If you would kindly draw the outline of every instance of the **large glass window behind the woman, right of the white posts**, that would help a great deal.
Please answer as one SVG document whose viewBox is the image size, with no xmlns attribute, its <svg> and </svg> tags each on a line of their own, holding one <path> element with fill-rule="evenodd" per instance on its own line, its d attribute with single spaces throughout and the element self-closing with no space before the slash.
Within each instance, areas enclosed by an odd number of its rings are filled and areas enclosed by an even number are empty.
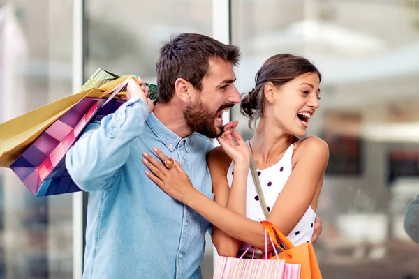
<svg viewBox="0 0 419 279">
<path fill-rule="evenodd" d="M 406 204 L 419 193 L 417 1 L 232 3 L 242 93 L 281 52 L 302 54 L 323 73 L 307 133 L 330 148 L 315 245 L 323 277 L 418 277 L 419 247 L 403 228 Z M 245 139 L 253 135 L 238 107 L 232 119 Z"/>
</svg>

